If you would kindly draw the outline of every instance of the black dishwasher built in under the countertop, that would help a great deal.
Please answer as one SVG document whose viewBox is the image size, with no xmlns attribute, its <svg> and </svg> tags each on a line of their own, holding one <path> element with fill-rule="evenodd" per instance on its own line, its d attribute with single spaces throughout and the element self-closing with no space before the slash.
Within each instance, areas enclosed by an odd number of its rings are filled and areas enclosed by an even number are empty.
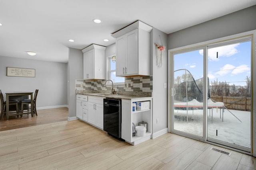
<svg viewBox="0 0 256 170">
<path fill-rule="evenodd" d="M 121 138 L 121 99 L 106 98 L 104 102 L 104 131 Z"/>
</svg>

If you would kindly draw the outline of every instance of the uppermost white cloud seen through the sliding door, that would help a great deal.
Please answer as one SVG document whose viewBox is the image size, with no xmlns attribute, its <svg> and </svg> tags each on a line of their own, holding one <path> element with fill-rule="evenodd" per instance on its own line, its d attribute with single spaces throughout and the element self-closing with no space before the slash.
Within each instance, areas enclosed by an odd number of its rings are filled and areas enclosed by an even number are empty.
<svg viewBox="0 0 256 170">
<path fill-rule="evenodd" d="M 218 61 L 219 58 L 217 58 L 217 52 L 218 52 L 218 57 L 230 57 L 238 53 L 238 50 L 236 49 L 238 45 L 240 44 L 237 43 L 237 44 L 225 45 L 221 47 L 208 49 L 208 59 L 210 61 Z M 203 50 L 199 50 L 199 54 L 203 55 Z"/>
</svg>

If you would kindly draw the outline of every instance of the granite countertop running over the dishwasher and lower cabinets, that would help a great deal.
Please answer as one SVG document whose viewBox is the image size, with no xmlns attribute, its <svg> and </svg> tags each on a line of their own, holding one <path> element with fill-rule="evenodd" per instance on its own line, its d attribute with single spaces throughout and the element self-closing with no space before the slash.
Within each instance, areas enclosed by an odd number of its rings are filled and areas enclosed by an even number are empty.
<svg viewBox="0 0 256 170">
<path fill-rule="evenodd" d="M 152 98 L 149 96 L 133 96 L 133 95 L 124 95 L 124 94 L 106 94 L 106 93 L 78 93 L 88 96 L 99 96 L 104 98 L 115 98 L 115 99 L 126 99 L 126 100 L 132 100 L 132 99 L 139 99 L 139 98 Z"/>
</svg>

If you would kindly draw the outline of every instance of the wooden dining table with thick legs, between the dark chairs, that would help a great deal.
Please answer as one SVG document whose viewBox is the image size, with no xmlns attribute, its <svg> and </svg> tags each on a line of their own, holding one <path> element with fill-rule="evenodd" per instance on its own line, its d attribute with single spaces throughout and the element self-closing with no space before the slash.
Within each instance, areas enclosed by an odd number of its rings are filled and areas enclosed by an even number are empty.
<svg viewBox="0 0 256 170">
<path fill-rule="evenodd" d="M 6 120 L 9 120 L 9 100 L 10 96 L 30 96 L 31 99 L 31 112 L 25 112 L 25 113 L 16 113 L 12 115 L 23 115 L 23 114 L 29 114 L 31 113 L 31 117 L 33 117 L 34 108 L 33 108 L 33 92 L 6 92 Z"/>
</svg>

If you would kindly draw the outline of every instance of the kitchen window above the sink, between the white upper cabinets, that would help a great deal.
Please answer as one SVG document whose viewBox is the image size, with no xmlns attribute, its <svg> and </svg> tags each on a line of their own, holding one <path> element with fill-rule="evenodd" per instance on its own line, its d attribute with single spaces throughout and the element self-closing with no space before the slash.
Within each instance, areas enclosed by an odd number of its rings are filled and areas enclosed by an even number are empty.
<svg viewBox="0 0 256 170">
<path fill-rule="evenodd" d="M 107 58 L 107 72 L 108 80 L 112 80 L 114 84 L 124 85 L 124 77 L 116 77 L 116 55 Z M 111 82 L 107 82 L 110 84 Z"/>
</svg>

